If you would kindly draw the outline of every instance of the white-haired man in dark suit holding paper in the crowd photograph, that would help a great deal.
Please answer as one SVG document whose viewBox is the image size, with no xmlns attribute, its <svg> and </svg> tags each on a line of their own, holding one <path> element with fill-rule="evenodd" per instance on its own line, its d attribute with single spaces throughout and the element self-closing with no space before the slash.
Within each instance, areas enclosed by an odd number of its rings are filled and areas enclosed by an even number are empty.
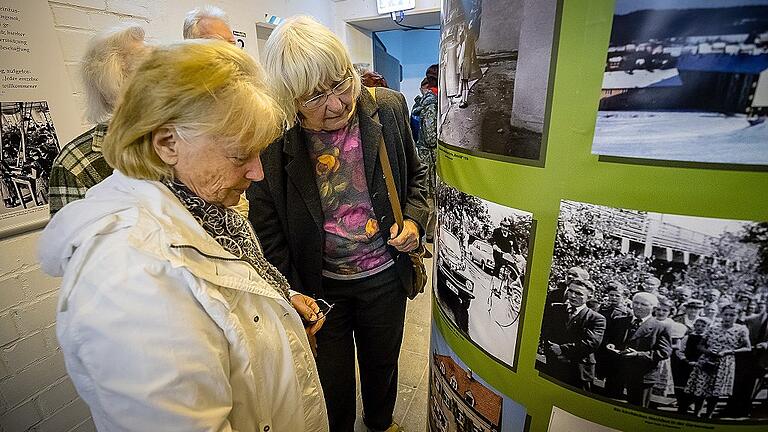
<svg viewBox="0 0 768 432">
<path fill-rule="evenodd" d="M 615 354 L 605 388 L 609 396 L 648 407 L 651 388 L 659 380 L 659 362 L 672 352 L 669 330 L 651 316 L 658 306 L 656 295 L 639 292 L 632 297 L 632 314 L 608 322 L 605 348 Z"/>
</svg>

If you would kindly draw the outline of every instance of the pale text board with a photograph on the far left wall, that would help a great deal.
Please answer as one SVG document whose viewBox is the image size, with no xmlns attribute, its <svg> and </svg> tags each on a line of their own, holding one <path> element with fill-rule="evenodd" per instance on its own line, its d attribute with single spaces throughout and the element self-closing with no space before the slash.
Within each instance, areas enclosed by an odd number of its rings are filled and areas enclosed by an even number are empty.
<svg viewBox="0 0 768 432">
<path fill-rule="evenodd" d="M 81 129 L 48 2 L 0 1 L 0 237 L 48 221 L 48 179 Z"/>
</svg>

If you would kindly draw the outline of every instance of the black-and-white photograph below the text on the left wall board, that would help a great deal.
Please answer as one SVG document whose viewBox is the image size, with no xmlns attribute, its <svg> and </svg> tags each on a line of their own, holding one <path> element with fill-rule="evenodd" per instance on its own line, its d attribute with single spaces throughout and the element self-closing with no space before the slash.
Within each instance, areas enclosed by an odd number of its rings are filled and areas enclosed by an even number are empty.
<svg viewBox="0 0 768 432">
<path fill-rule="evenodd" d="M 47 102 L 0 102 L 0 110 L 3 218 L 48 204 L 48 180 L 59 141 Z"/>
</svg>

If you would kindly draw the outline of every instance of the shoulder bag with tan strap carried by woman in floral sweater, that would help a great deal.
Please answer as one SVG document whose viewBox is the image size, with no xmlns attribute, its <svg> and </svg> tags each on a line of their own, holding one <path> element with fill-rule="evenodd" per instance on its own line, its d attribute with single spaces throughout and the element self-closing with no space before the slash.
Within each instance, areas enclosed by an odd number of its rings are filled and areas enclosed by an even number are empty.
<svg viewBox="0 0 768 432">
<path fill-rule="evenodd" d="M 368 91 L 375 101 L 376 88 L 368 87 Z M 378 122 L 379 113 L 377 112 L 373 118 Z M 397 223 L 399 233 L 403 229 L 403 211 L 400 208 L 400 197 L 397 195 L 395 180 L 392 176 L 392 166 L 389 164 L 387 146 L 384 144 L 384 135 L 381 136 L 381 140 L 379 141 L 379 162 L 381 163 L 381 169 L 384 171 L 384 181 L 387 184 L 387 195 L 389 195 L 389 203 L 392 206 L 392 213 L 395 215 L 395 222 Z M 405 287 L 405 293 L 411 300 L 423 293 L 424 287 L 427 285 L 427 268 L 424 266 L 425 258 L 432 258 L 432 254 L 422 243 L 419 243 L 419 247 L 416 249 L 408 252 L 408 259 L 411 261 L 411 267 L 413 267 L 413 280 L 411 281 L 410 286 Z"/>
</svg>

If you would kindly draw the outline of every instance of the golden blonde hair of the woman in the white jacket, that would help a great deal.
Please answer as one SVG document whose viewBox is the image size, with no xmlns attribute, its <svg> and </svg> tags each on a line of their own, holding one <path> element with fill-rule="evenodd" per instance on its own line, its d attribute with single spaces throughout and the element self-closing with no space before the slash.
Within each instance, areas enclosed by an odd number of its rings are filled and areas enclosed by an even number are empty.
<svg viewBox="0 0 768 432">
<path fill-rule="evenodd" d="M 172 178 L 152 145 L 153 131 L 163 126 L 248 154 L 261 152 L 285 121 L 267 90 L 261 67 L 226 42 L 197 39 L 158 47 L 125 89 L 104 139 L 104 158 L 129 177 Z"/>
</svg>

